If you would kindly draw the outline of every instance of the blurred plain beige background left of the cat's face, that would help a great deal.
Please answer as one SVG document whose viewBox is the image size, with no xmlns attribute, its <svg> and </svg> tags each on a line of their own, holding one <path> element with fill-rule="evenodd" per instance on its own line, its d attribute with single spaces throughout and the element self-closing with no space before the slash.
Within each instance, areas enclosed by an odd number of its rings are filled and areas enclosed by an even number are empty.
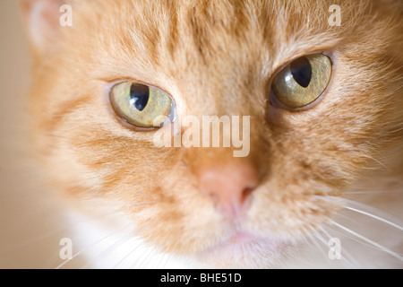
<svg viewBox="0 0 403 287">
<path fill-rule="evenodd" d="M 65 230 L 30 161 L 30 46 L 19 8 L 0 1 L 0 268 L 56 267 Z"/>
</svg>

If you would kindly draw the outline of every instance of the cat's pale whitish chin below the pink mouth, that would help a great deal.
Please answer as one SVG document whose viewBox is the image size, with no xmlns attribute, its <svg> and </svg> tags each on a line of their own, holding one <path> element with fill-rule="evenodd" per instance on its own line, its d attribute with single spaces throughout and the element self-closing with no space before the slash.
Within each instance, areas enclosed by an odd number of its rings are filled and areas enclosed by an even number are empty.
<svg viewBox="0 0 403 287">
<path fill-rule="evenodd" d="M 278 268 L 290 244 L 285 240 L 236 232 L 198 255 L 210 268 Z"/>
</svg>

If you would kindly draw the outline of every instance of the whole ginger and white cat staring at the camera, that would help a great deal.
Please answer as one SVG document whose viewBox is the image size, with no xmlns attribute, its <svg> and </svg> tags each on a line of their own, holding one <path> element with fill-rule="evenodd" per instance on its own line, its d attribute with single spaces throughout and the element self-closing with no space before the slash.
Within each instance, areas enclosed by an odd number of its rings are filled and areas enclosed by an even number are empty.
<svg viewBox="0 0 403 287">
<path fill-rule="evenodd" d="M 304 246 L 322 245 L 327 257 L 322 243 L 347 236 L 381 249 L 381 259 L 348 257 L 344 238 L 344 267 L 402 267 L 399 220 L 350 197 L 382 191 L 383 207 L 393 213 L 398 202 L 401 215 L 401 1 L 21 7 L 35 58 L 31 131 L 47 178 L 72 222 L 95 218 L 80 230 L 88 243 L 102 245 L 99 234 L 111 232 L 126 238 L 114 239 L 104 256 L 115 261 L 102 266 L 127 257 L 152 266 L 150 252 L 167 266 L 307 267 Z M 154 113 L 164 116 L 157 124 Z M 156 146 L 160 131 L 184 135 L 174 126 L 186 116 L 250 118 L 248 154 L 235 157 L 232 145 Z M 394 241 L 383 246 L 341 224 L 348 211 L 371 220 L 364 231 L 375 237 L 389 226 Z"/>
</svg>

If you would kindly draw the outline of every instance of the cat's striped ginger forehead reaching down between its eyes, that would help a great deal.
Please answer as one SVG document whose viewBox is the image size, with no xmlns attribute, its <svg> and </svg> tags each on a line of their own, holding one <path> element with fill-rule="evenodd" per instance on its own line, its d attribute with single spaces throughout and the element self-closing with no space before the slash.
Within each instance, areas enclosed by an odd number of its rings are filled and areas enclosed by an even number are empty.
<svg viewBox="0 0 403 287">
<path fill-rule="evenodd" d="M 336 2 L 348 17 L 354 4 Z M 131 78 L 210 105 L 231 94 L 235 108 L 242 95 L 263 95 L 281 65 L 331 48 L 351 28 L 347 22 L 344 28 L 329 25 L 330 1 L 85 3 L 77 2 L 76 31 L 88 35 L 90 28 L 88 45 L 98 50 L 90 57 L 101 63 L 97 77 Z"/>
</svg>

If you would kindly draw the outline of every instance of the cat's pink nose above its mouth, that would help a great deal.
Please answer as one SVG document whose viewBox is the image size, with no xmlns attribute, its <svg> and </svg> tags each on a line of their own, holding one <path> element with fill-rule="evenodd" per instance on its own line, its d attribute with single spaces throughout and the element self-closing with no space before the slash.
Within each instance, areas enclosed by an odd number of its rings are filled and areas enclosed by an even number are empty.
<svg viewBox="0 0 403 287">
<path fill-rule="evenodd" d="M 199 187 L 210 196 L 219 212 L 238 215 L 258 186 L 258 170 L 250 161 L 215 164 L 199 173 Z"/>
</svg>

